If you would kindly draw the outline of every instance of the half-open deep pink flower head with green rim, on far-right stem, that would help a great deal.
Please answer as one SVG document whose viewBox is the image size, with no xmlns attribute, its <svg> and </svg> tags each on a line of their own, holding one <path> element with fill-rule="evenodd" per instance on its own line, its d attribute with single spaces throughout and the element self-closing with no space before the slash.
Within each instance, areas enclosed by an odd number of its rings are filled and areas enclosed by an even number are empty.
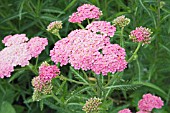
<svg viewBox="0 0 170 113">
<path fill-rule="evenodd" d="M 137 27 L 135 30 L 130 32 L 130 39 L 133 40 L 133 42 L 142 42 L 143 44 L 150 43 L 152 34 L 151 30 L 146 27 Z"/>
</svg>

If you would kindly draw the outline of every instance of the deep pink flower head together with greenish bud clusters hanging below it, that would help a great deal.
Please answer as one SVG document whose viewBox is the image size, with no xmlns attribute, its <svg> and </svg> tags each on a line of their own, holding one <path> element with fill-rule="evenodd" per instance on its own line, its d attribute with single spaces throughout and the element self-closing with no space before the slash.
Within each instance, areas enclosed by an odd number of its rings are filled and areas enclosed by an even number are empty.
<svg viewBox="0 0 170 113">
<path fill-rule="evenodd" d="M 43 62 L 39 67 L 39 76 L 32 79 L 34 87 L 33 100 L 38 101 L 41 95 L 50 94 L 52 92 L 51 80 L 60 74 L 60 70 L 56 65 L 49 65 Z"/>
</svg>

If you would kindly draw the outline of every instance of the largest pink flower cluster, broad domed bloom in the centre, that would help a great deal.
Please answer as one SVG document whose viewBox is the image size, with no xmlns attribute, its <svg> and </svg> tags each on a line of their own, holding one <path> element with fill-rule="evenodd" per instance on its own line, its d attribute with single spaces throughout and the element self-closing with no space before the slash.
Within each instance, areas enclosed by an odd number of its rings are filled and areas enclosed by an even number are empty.
<svg viewBox="0 0 170 113">
<path fill-rule="evenodd" d="M 109 37 L 89 30 L 74 30 L 67 38 L 56 42 L 50 51 L 52 61 L 70 63 L 75 69 L 92 70 L 107 75 L 126 68 L 125 49 L 111 44 Z"/>
</svg>

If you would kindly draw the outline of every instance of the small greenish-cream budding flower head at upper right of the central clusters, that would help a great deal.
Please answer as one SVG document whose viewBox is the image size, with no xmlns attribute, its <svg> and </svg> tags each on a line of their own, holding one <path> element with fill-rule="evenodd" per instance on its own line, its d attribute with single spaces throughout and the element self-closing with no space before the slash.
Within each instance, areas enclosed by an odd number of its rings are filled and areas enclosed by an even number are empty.
<svg viewBox="0 0 170 113">
<path fill-rule="evenodd" d="M 125 18 L 125 16 L 122 15 L 114 19 L 112 22 L 115 26 L 125 27 L 130 23 L 130 19 Z"/>
</svg>

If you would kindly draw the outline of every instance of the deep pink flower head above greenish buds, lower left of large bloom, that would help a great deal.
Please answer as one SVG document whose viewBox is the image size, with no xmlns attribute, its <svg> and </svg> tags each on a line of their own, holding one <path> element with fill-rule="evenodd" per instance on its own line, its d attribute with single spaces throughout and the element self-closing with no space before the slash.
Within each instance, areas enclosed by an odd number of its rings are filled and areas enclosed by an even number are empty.
<svg viewBox="0 0 170 113">
<path fill-rule="evenodd" d="M 47 63 L 43 63 L 39 67 L 39 76 L 42 82 L 51 81 L 59 74 L 60 70 L 56 65 L 48 65 Z"/>
</svg>

